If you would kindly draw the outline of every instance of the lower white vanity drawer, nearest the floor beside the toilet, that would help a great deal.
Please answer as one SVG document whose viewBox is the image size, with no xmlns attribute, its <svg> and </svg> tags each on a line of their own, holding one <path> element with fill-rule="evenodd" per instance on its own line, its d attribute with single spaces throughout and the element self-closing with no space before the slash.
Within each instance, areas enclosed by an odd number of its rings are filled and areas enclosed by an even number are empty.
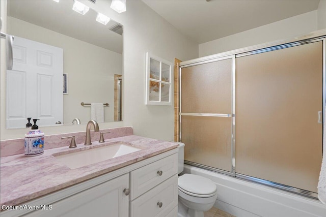
<svg viewBox="0 0 326 217">
<path fill-rule="evenodd" d="M 175 216 L 178 205 L 178 175 L 130 202 L 130 217 Z"/>
</svg>

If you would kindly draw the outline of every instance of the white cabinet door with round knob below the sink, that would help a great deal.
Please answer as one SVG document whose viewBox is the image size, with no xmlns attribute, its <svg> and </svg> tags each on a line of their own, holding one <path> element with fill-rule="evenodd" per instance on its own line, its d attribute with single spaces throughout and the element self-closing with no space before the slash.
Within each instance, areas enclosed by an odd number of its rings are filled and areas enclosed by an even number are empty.
<svg viewBox="0 0 326 217">
<path fill-rule="evenodd" d="M 51 210 L 38 210 L 25 216 L 33 217 L 128 217 L 129 198 L 123 192 L 128 189 L 129 175 L 124 174 L 95 187 L 55 202 Z"/>
</svg>

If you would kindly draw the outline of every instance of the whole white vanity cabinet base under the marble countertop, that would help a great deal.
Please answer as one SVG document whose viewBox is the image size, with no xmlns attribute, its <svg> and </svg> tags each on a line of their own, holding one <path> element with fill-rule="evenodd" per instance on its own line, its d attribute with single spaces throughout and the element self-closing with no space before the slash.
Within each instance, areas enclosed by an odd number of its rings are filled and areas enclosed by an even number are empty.
<svg viewBox="0 0 326 217">
<path fill-rule="evenodd" d="M 1 216 L 176 217 L 177 152 L 175 148 L 24 203 L 47 209 L 6 210 Z"/>
</svg>

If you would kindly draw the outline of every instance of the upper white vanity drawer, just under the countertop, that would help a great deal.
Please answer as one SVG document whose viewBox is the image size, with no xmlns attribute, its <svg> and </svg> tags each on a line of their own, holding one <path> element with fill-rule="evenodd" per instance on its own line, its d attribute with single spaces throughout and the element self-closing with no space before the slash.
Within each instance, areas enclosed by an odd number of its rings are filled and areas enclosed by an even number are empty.
<svg viewBox="0 0 326 217">
<path fill-rule="evenodd" d="M 133 200 L 178 172 L 178 154 L 130 172 L 130 200 Z"/>
</svg>

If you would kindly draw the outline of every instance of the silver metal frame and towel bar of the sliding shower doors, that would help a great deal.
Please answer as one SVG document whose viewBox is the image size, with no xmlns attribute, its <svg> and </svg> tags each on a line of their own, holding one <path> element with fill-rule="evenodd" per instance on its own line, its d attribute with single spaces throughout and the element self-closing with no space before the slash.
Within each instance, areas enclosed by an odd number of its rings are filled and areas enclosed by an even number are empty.
<svg viewBox="0 0 326 217">
<path fill-rule="evenodd" d="M 237 50 L 232 50 L 232 51 L 228 51 L 228 52 L 224 52 L 224 53 L 219 53 L 219 54 L 214 54 L 214 55 L 210 55 L 210 56 L 206 56 L 206 57 L 201 57 L 201 58 L 197 58 L 197 59 L 192 59 L 192 60 L 187 60 L 187 61 L 183 61 L 179 64 L 179 69 L 178 69 L 178 74 L 179 74 L 179 141 L 181 141 L 181 116 L 214 116 L 214 117 L 232 117 L 231 121 L 232 121 L 232 127 L 231 127 L 231 153 L 232 153 L 232 158 L 230 159 L 232 161 L 232 171 L 225 171 L 225 170 L 221 170 L 221 169 L 217 169 L 217 168 L 213 168 L 213 167 L 209 167 L 209 166 L 205 166 L 205 165 L 201 165 L 198 163 L 194 163 L 194 162 L 189 162 L 189 161 L 184 161 L 186 164 L 189 165 L 193 165 L 193 166 L 198 166 L 204 169 L 208 169 L 211 171 L 215 171 L 215 172 L 219 172 L 219 173 L 223 173 L 226 175 L 230 175 L 233 176 L 235 178 L 239 178 L 242 180 L 247 180 L 247 181 L 251 181 L 251 182 L 256 182 L 256 183 L 260 183 L 260 184 L 264 184 L 267 185 L 269 187 L 273 187 L 273 188 L 277 188 L 277 189 L 281 189 L 287 192 L 291 192 L 291 193 L 295 193 L 295 194 L 299 194 L 299 195 L 303 195 L 306 197 L 310 197 L 310 198 L 314 198 L 317 199 L 317 194 L 314 192 L 310 192 L 310 191 L 306 191 L 306 190 L 302 190 L 302 189 L 297 189 L 294 187 L 290 187 L 288 185 L 284 185 L 284 184 L 280 184 L 280 183 L 276 183 L 273 181 L 268 181 L 268 180 L 264 180 L 264 179 L 259 179 L 259 178 L 255 178 L 255 177 L 251 177 L 248 175 L 243 175 L 243 174 L 239 174 L 236 173 L 236 164 L 235 164 L 235 148 L 236 148 L 236 144 L 235 144 L 235 121 L 236 121 L 236 111 L 235 111 L 235 73 L 236 73 L 236 69 L 235 69 L 235 59 L 237 57 L 242 57 L 242 56 L 247 56 L 247 55 L 253 55 L 253 54 L 257 54 L 257 53 L 263 53 L 263 52 L 269 52 L 269 51 L 273 51 L 273 50 L 279 50 L 279 49 L 283 49 L 283 48 L 288 48 L 288 47 L 293 47 L 293 46 L 298 46 L 298 45 L 303 45 L 303 44 L 308 44 L 308 43 L 312 43 L 312 42 L 317 42 L 317 41 L 322 41 L 322 47 L 323 47 L 323 67 L 322 67 L 322 114 L 323 114 L 323 127 L 324 128 L 324 118 L 325 118 L 325 65 L 326 65 L 326 30 L 320 30 L 317 31 L 313 34 L 308 34 L 308 35 L 304 35 L 301 37 L 297 37 L 295 39 L 291 39 L 291 40 L 281 40 L 281 41 L 276 41 L 276 42 L 270 42 L 270 43 L 264 43 L 261 45 L 257 45 L 257 46 L 251 46 L 251 47 L 247 47 L 247 48 L 241 48 L 241 49 L 237 49 Z M 232 85 L 232 91 L 231 91 L 231 95 L 232 95 L 232 101 L 231 101 L 231 110 L 232 113 L 231 114 L 219 114 L 219 113 L 182 113 L 181 112 L 181 86 L 182 86 L 182 82 L 181 82 L 181 69 L 186 68 L 186 67 L 191 67 L 191 66 L 197 66 L 197 65 L 202 65 L 202 64 L 207 64 L 207 63 L 211 63 L 214 61 L 219 61 L 219 60 L 224 60 L 224 59 L 232 59 L 232 75 L 231 75 L 231 85 Z M 181 141 L 182 142 L 182 141 Z"/>
</svg>

